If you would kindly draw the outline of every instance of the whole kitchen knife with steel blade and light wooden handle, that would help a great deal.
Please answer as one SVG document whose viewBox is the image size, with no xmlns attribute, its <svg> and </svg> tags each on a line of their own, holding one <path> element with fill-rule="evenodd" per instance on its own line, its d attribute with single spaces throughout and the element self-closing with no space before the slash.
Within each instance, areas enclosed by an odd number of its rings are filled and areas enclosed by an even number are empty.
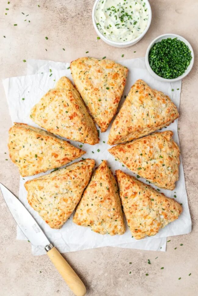
<svg viewBox="0 0 198 296">
<path fill-rule="evenodd" d="M 49 242 L 36 220 L 19 199 L 1 183 L 0 188 L 13 218 L 30 243 L 33 246 L 45 246 L 51 262 L 62 275 L 69 288 L 76 296 L 84 296 L 86 294 L 85 285 L 58 250 Z"/>
</svg>

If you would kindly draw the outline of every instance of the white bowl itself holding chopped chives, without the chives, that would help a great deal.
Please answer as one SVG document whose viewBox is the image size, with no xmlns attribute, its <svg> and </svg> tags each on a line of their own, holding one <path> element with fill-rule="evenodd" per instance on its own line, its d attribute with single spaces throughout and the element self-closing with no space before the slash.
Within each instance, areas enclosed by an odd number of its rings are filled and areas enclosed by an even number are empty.
<svg viewBox="0 0 198 296">
<path fill-rule="evenodd" d="M 177 78 L 173 78 L 173 79 L 167 79 L 167 78 L 163 78 L 159 75 L 157 75 L 150 67 L 150 64 L 149 64 L 149 52 L 150 52 L 150 49 L 151 47 L 154 45 L 154 43 L 157 43 L 159 41 L 161 41 L 162 39 L 167 39 L 167 38 L 175 38 L 177 37 L 177 39 L 183 41 L 188 47 L 189 47 L 189 50 L 191 51 L 191 56 L 192 56 L 192 59 L 190 61 L 190 64 L 188 66 L 188 68 L 186 69 L 186 71 L 178 76 Z M 148 46 L 147 48 L 147 51 L 146 51 L 146 55 L 145 55 L 145 63 L 146 63 L 146 67 L 147 67 L 147 70 L 149 71 L 150 75 L 153 76 L 154 78 L 156 78 L 157 80 L 159 81 L 163 81 L 163 82 L 175 82 L 175 81 L 178 81 L 178 80 L 181 80 L 183 79 L 184 77 L 186 77 L 189 72 L 191 71 L 192 67 L 193 67 L 193 63 L 194 63 L 194 52 L 193 52 L 193 48 L 192 46 L 190 45 L 190 43 L 185 39 L 183 38 L 182 36 L 179 36 L 179 35 L 176 35 L 176 34 L 163 34 L 163 35 L 160 35 L 158 36 L 157 38 L 155 38 Z"/>
</svg>

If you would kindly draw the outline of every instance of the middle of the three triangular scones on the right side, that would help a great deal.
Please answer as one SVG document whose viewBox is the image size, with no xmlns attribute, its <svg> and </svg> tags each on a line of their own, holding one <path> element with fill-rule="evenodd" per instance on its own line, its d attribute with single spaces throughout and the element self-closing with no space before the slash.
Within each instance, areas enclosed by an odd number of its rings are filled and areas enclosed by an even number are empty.
<svg viewBox="0 0 198 296">
<path fill-rule="evenodd" d="M 157 132 L 108 151 L 133 173 L 155 185 L 173 190 L 179 179 L 179 147 L 173 132 Z"/>
</svg>

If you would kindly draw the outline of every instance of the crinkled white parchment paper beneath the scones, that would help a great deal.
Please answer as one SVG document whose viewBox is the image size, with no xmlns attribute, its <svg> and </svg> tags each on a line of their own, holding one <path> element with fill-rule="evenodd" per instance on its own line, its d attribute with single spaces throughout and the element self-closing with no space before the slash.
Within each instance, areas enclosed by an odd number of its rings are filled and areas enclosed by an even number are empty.
<svg viewBox="0 0 198 296">
<path fill-rule="evenodd" d="M 33 107 L 40 100 L 40 98 L 48 91 L 48 89 L 54 87 L 55 82 L 58 81 L 60 77 L 67 76 L 69 79 L 72 80 L 70 69 L 67 69 L 67 67 L 69 67 L 69 64 L 58 63 L 59 66 L 61 66 L 61 70 L 55 67 L 55 65 L 57 64 L 56 62 L 50 62 L 49 64 L 49 61 L 41 61 L 42 67 L 41 64 L 38 64 L 38 62 L 36 64 L 36 70 L 40 74 L 27 75 L 21 77 L 11 77 L 3 81 L 12 122 L 24 122 L 32 126 L 37 126 L 29 117 L 30 108 Z M 169 95 L 172 101 L 179 108 L 181 81 L 176 82 L 174 84 L 156 81 L 153 77 L 150 76 L 146 69 L 142 69 L 143 67 L 145 67 L 144 61 L 142 59 L 138 59 L 138 61 L 136 62 L 136 68 L 134 66 L 133 60 L 122 60 L 121 64 L 126 65 L 129 68 L 129 75 L 127 78 L 124 95 L 127 95 L 132 84 L 137 79 L 141 78 L 144 81 L 146 81 L 152 88 L 156 88 L 160 91 L 163 91 L 165 94 Z M 33 65 L 34 61 L 30 61 L 28 63 L 28 71 L 30 71 L 32 67 L 35 73 L 35 68 Z M 51 73 L 45 72 L 49 71 L 49 69 L 51 69 Z M 179 90 L 177 90 L 177 88 L 179 88 Z M 174 89 L 174 91 L 171 91 L 171 89 Z M 124 100 L 124 95 L 122 98 L 122 102 Z M 25 100 L 22 100 L 22 98 L 25 98 Z M 115 169 L 121 169 L 127 174 L 133 175 L 133 173 L 130 170 L 128 170 L 126 167 L 122 167 L 122 164 L 118 161 L 115 161 L 113 156 L 110 153 L 108 153 L 107 150 L 110 146 L 106 143 L 108 139 L 109 129 L 105 133 L 100 133 L 99 144 L 94 146 L 88 144 L 83 145 L 82 149 L 87 151 L 87 153 L 83 155 L 83 157 L 93 158 L 96 162 L 96 166 L 98 166 L 101 163 L 102 159 L 106 159 L 108 160 L 108 164 L 111 167 L 113 173 L 115 172 Z M 174 140 L 176 143 L 179 144 L 179 138 L 177 133 L 177 120 L 175 120 L 175 122 L 172 123 L 167 129 L 170 129 L 174 132 Z M 103 141 L 105 143 L 103 143 Z M 78 142 L 70 142 L 74 146 L 80 145 L 80 143 Z M 100 149 L 100 151 L 97 152 L 97 149 Z M 92 151 L 94 153 L 92 153 Z M 164 229 L 161 229 L 155 237 L 145 238 L 141 240 L 141 242 L 136 242 L 136 240 L 131 237 L 131 233 L 128 227 L 126 233 L 122 236 L 100 235 L 95 232 L 92 232 L 90 228 L 81 227 L 74 224 L 72 222 L 72 216 L 65 223 L 65 225 L 63 225 L 61 229 L 51 229 L 38 215 L 38 213 L 29 206 L 27 202 L 27 192 L 23 184 L 25 181 L 35 178 L 35 176 L 20 178 L 19 198 L 27 207 L 27 209 L 31 212 L 31 214 L 34 216 L 37 222 L 41 225 L 42 229 L 44 230 L 50 241 L 54 243 L 61 252 L 83 250 L 101 246 L 119 245 L 126 247 L 127 243 L 131 243 L 131 245 L 133 243 L 137 243 L 137 245 L 140 246 L 141 243 L 144 244 L 144 242 L 146 243 L 143 246 L 143 249 L 149 248 L 150 250 L 152 250 L 152 243 L 154 244 L 154 241 L 157 238 L 164 238 L 165 236 L 184 234 L 191 231 L 191 219 L 189 215 L 182 161 L 179 169 L 179 181 L 176 184 L 175 191 L 168 191 L 163 189 L 160 190 L 161 192 L 164 192 L 164 194 L 168 197 L 174 198 L 174 195 L 177 196 L 176 200 L 182 203 L 183 205 L 182 214 L 180 215 L 178 220 L 170 223 Z M 41 173 L 37 176 L 41 176 L 43 174 L 46 173 Z M 145 181 L 144 179 L 140 180 Z M 139 248 L 141 248 L 141 246 Z M 159 248 L 159 246 L 157 248 Z M 39 255 L 45 253 L 45 251 L 43 250 L 43 247 L 37 246 L 33 247 L 33 253 L 35 255 Z"/>
</svg>

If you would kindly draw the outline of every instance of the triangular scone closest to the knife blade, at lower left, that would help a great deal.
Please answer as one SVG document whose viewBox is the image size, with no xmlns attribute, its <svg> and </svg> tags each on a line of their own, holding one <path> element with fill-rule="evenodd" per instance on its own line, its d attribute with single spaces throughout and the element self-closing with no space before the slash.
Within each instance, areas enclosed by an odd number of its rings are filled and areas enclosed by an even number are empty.
<svg viewBox="0 0 198 296">
<path fill-rule="evenodd" d="M 61 228 L 76 208 L 91 177 L 93 159 L 80 160 L 27 181 L 27 200 L 51 228 Z"/>
</svg>

